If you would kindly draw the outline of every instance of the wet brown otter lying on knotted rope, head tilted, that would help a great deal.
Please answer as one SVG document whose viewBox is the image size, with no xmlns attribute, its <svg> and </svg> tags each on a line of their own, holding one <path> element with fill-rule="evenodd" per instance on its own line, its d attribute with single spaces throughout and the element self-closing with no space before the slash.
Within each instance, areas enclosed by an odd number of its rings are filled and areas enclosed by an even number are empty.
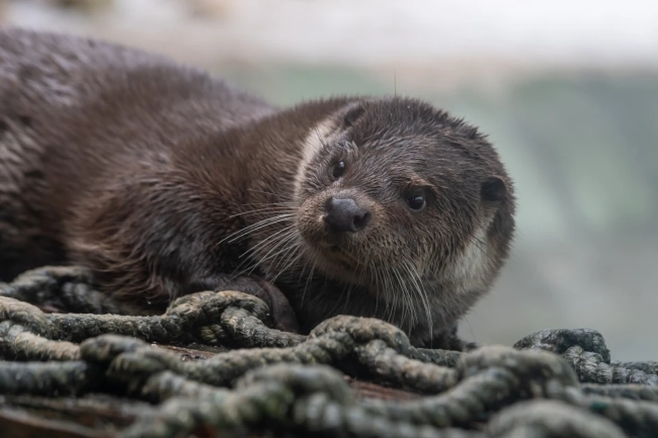
<svg viewBox="0 0 658 438">
<path fill-rule="evenodd" d="M 252 293 L 277 327 L 377 317 L 431 345 L 515 229 L 485 134 L 422 99 L 289 108 L 165 56 L 0 30 L 0 276 L 91 269 L 126 312 Z"/>
</svg>

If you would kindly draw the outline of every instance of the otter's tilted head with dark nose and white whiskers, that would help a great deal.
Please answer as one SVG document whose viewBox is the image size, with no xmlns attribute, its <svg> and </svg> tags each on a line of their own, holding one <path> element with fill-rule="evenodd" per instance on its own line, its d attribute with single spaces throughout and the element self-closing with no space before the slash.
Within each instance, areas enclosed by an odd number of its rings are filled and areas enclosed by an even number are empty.
<svg viewBox="0 0 658 438">
<path fill-rule="evenodd" d="M 309 130 L 293 202 L 319 271 L 430 331 L 489 289 L 514 230 L 512 184 L 485 136 L 415 99 L 352 101 Z"/>
</svg>

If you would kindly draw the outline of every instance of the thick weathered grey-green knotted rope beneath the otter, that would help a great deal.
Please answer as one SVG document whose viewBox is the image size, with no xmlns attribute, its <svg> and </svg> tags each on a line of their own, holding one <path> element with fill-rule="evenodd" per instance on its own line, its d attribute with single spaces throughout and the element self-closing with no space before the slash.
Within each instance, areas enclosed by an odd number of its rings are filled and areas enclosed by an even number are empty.
<svg viewBox="0 0 658 438">
<path fill-rule="evenodd" d="M 56 305 L 69 313 L 44 313 Z M 0 284 L 0 394 L 104 391 L 154 404 L 119 437 L 265 430 L 324 437 L 655 437 L 658 365 L 611 361 L 595 330 L 543 330 L 513 347 L 414 348 L 378 319 L 337 316 L 308 336 L 267 326 L 267 305 L 204 291 L 158 316 L 115 314 L 79 268 Z M 221 347 L 184 360 L 154 344 Z M 358 398 L 358 374 L 422 394 Z"/>
</svg>

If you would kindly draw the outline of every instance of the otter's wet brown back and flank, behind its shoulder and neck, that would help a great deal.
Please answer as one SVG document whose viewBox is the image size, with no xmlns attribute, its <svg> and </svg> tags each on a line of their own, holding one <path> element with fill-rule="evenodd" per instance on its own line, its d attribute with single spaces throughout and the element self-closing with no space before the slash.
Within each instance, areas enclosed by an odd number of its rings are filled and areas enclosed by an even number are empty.
<svg viewBox="0 0 658 438">
<path fill-rule="evenodd" d="M 1 279 L 69 259 L 65 223 L 87 191 L 98 200 L 94 188 L 117 174 L 166 165 L 181 143 L 271 111 L 160 56 L 0 29 Z"/>
</svg>

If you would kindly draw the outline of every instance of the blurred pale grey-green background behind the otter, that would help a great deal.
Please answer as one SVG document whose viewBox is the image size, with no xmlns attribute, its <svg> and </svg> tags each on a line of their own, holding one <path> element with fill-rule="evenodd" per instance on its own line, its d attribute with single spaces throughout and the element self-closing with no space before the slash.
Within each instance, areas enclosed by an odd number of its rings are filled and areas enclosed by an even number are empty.
<svg viewBox="0 0 658 438">
<path fill-rule="evenodd" d="M 461 336 L 602 332 L 658 360 L 658 2 L 0 0 L 0 23 L 164 53 L 285 105 L 413 95 L 490 134 L 513 256 Z"/>
</svg>

